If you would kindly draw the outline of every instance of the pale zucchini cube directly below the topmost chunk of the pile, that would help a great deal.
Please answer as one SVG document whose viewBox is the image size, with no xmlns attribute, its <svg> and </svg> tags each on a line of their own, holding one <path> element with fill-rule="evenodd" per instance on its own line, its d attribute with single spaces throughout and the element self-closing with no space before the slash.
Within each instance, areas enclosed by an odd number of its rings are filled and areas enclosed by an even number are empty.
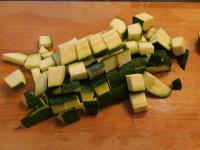
<svg viewBox="0 0 200 150">
<path fill-rule="evenodd" d="M 142 27 L 139 23 L 128 26 L 128 40 L 140 40 L 142 38 Z"/>
</svg>

